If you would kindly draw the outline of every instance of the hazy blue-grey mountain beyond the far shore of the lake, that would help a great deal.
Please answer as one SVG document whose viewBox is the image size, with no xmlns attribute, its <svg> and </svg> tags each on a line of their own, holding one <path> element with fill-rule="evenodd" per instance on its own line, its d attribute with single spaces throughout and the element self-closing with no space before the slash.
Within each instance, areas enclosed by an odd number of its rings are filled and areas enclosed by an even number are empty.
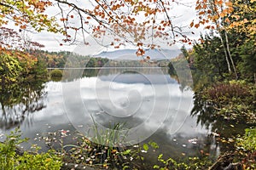
<svg viewBox="0 0 256 170">
<path fill-rule="evenodd" d="M 108 58 L 114 60 L 140 60 L 141 57 L 137 57 L 137 49 L 120 49 L 115 51 L 104 51 L 100 54 L 96 54 L 93 57 L 96 58 Z M 180 49 L 148 49 L 145 51 L 145 57 L 149 56 L 151 60 L 163 60 L 173 59 L 181 54 Z"/>
</svg>

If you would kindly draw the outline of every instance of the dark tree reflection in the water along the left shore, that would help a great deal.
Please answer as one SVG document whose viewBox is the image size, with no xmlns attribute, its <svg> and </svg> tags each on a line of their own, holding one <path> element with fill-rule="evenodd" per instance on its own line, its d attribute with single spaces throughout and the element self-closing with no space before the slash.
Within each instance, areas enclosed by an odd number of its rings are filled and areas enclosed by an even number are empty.
<svg viewBox="0 0 256 170">
<path fill-rule="evenodd" d="M 0 128 L 16 127 L 31 113 L 46 106 L 44 82 L 46 80 L 32 80 L 0 87 Z"/>
</svg>

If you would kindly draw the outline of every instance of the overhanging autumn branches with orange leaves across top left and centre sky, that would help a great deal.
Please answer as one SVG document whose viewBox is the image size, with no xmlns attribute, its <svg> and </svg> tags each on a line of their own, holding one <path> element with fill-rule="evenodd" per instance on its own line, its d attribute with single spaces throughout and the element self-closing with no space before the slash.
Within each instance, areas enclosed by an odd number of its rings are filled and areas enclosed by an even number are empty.
<svg viewBox="0 0 256 170">
<path fill-rule="evenodd" d="M 111 35 L 112 41 L 104 45 L 119 48 L 129 42 L 137 46 L 137 55 L 143 55 L 144 48 L 189 42 L 180 27 L 173 25 L 170 12 L 176 4 L 183 5 L 175 0 L 3 0 L 0 26 L 12 20 L 20 29 L 61 32 L 67 43 L 88 34 L 98 42 L 102 41 L 101 37 Z M 47 13 L 48 9 L 55 12 Z M 85 39 L 84 43 L 87 43 Z"/>
</svg>

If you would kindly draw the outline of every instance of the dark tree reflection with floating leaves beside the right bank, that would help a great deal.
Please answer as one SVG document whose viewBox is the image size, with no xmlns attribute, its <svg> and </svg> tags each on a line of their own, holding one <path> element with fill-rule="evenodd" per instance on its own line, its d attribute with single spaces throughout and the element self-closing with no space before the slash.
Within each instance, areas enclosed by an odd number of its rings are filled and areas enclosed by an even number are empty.
<svg viewBox="0 0 256 170">
<path fill-rule="evenodd" d="M 212 144 L 207 145 L 212 145 L 220 152 L 232 149 L 236 137 L 243 134 L 245 128 L 250 127 L 243 116 L 233 120 L 219 115 L 217 106 L 204 99 L 201 92 L 195 92 L 191 116 L 196 116 L 198 124 L 211 130 L 212 133 L 207 137 L 207 142 Z"/>
</svg>

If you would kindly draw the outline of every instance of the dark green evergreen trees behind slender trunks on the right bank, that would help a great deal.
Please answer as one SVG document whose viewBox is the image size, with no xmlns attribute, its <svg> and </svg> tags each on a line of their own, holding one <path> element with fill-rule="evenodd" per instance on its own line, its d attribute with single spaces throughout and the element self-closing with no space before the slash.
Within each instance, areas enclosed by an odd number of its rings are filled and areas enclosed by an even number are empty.
<svg viewBox="0 0 256 170">
<path fill-rule="evenodd" d="M 220 34 L 220 36 L 223 36 L 224 32 L 221 31 Z M 247 82 L 254 82 L 254 60 L 256 58 L 253 41 L 245 37 L 244 34 L 237 35 L 236 31 L 227 33 L 227 36 L 230 38 L 230 54 L 236 66 L 236 79 L 246 79 Z M 189 53 L 189 65 L 192 65 L 190 68 L 195 70 L 193 71 L 194 75 L 196 76 L 197 72 L 201 72 L 203 76 L 212 79 L 212 82 L 234 78 L 226 64 L 224 57 L 226 52 L 219 37 L 212 31 L 205 36 L 201 36 L 201 39 L 203 42 L 195 43 L 191 53 Z"/>
</svg>

